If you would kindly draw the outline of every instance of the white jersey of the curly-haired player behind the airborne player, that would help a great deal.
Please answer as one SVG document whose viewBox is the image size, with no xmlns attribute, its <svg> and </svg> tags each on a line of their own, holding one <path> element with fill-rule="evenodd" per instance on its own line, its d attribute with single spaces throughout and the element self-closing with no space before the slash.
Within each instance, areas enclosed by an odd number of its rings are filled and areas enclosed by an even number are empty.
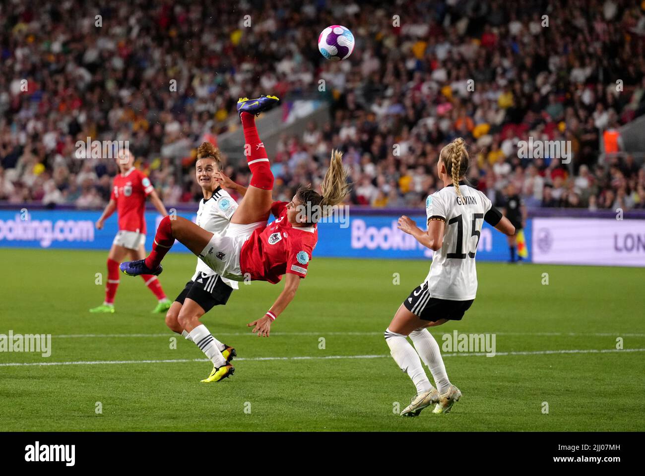
<svg viewBox="0 0 645 476">
<path fill-rule="evenodd" d="M 233 197 L 223 190 L 222 188 L 217 188 L 213 192 L 213 196 L 208 200 L 201 199 L 199 201 L 199 210 L 197 211 L 197 225 L 204 228 L 209 232 L 213 233 L 223 233 L 230 219 L 237 210 L 237 202 L 233 200 Z M 208 267 L 208 264 L 201 261 L 200 258 L 197 258 L 197 267 L 195 268 L 195 274 L 192 277 L 192 281 L 195 281 L 199 274 L 201 277 L 205 278 L 212 276 L 215 272 Z M 221 278 L 224 283 L 233 289 L 238 289 L 237 281 L 231 281 L 230 279 Z"/>
</svg>

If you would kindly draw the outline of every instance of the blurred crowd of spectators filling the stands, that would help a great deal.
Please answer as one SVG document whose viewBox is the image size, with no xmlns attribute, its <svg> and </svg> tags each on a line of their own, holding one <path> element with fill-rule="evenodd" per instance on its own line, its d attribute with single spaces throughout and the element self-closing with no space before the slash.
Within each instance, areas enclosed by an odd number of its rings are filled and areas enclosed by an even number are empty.
<svg viewBox="0 0 645 476">
<path fill-rule="evenodd" d="M 337 23 L 355 50 L 326 61 Z M 619 132 L 645 113 L 645 2 L 9 0 L 0 24 L 0 201 L 103 206 L 117 167 L 77 157 L 86 137 L 130 141 L 164 203 L 194 201 L 195 149 L 239 127 L 238 97 L 319 94 L 332 117 L 280 138 L 277 197 L 319 184 L 339 148 L 348 203 L 422 207 L 464 137 L 495 203 L 645 208 Z M 529 137 L 566 141 L 571 163 L 522 158 Z M 226 173 L 248 183 L 242 150 Z"/>
</svg>

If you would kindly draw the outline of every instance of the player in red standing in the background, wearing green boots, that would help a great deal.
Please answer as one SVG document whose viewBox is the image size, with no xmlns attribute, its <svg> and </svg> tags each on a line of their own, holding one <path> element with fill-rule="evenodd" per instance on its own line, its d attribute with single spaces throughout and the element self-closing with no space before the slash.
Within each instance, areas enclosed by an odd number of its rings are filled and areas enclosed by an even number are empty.
<svg viewBox="0 0 645 476">
<path fill-rule="evenodd" d="M 134 167 L 134 155 L 129 150 L 119 152 L 117 157 L 119 174 L 114 177 L 110 202 L 103 210 L 103 215 L 96 222 L 96 228 L 101 230 L 105 220 L 116 210 L 119 216 L 119 232 L 114 237 L 112 248 L 108 254 L 108 279 L 105 286 L 105 301 L 101 306 L 90 309 L 90 312 L 114 312 L 114 295 L 119 286 L 119 263 L 125 257 L 133 259 L 146 255 L 146 220 L 144 211 L 146 198 L 164 217 L 168 215 L 166 207 L 157 196 L 150 179 Z M 141 275 L 146 286 L 157 297 L 157 306 L 152 312 L 166 312 L 170 301 L 166 297 L 155 275 Z"/>
</svg>

